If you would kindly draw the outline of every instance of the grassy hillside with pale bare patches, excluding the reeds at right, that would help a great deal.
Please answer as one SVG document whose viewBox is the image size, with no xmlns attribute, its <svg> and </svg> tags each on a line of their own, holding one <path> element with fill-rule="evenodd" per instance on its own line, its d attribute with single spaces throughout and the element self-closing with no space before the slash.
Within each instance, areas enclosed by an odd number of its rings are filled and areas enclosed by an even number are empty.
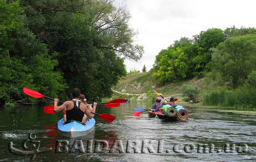
<svg viewBox="0 0 256 162">
<path fill-rule="evenodd" d="M 112 98 L 128 98 L 137 101 L 151 101 L 157 95 L 154 93 L 153 88 L 161 93 L 167 99 L 172 97 L 178 98 L 178 102 L 183 102 L 180 93 L 180 87 L 183 84 L 196 85 L 201 89 L 198 99 L 201 100 L 204 93 L 212 87 L 209 87 L 204 78 L 193 78 L 182 82 L 169 83 L 166 85 L 159 85 L 151 76 L 151 72 L 140 74 L 128 74 L 119 80 L 119 83 L 113 87 L 114 95 Z M 147 92 L 151 92 L 151 96 Z"/>
</svg>

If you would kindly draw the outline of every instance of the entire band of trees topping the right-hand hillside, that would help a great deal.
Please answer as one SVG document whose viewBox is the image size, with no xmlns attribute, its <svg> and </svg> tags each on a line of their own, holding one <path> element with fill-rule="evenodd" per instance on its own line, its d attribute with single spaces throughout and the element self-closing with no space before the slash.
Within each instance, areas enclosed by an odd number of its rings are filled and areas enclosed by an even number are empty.
<svg viewBox="0 0 256 162">
<path fill-rule="evenodd" d="M 246 80 L 247 75 L 251 70 L 245 70 L 246 72 L 240 75 L 241 78 L 238 78 L 238 76 L 235 77 L 234 75 L 233 77 L 231 77 L 231 74 L 226 74 L 228 73 L 228 71 L 232 71 L 232 67 L 239 67 L 240 63 L 242 63 L 242 69 L 250 68 L 249 65 L 244 65 L 244 63 L 246 62 L 245 60 L 247 59 L 251 59 L 250 61 L 247 60 L 247 62 L 250 62 L 250 65 L 255 66 L 254 60 L 252 58 L 253 56 L 250 55 L 249 58 L 245 56 L 247 54 L 244 55 L 244 51 L 247 51 L 248 53 L 249 48 L 250 50 L 252 50 L 252 44 L 254 44 L 255 41 L 254 39 L 249 38 L 253 36 L 247 36 L 248 34 L 256 34 L 256 29 L 244 27 L 241 27 L 239 29 L 235 26 L 233 26 L 232 28 L 226 28 L 225 30 L 221 30 L 219 28 L 209 28 L 207 31 L 201 31 L 200 34 L 196 34 L 195 36 L 193 36 L 192 39 L 182 37 L 180 40 L 176 40 L 167 49 L 163 49 L 159 52 L 154 62 L 154 73 L 152 75 L 160 83 L 167 83 L 177 82 L 178 80 L 184 80 L 194 76 L 203 77 L 206 72 L 212 70 L 214 70 L 212 71 L 212 73 L 219 73 L 219 71 L 221 71 L 219 69 L 223 68 L 223 76 L 225 76 L 226 79 L 227 77 L 233 78 L 234 84 L 232 86 L 237 87 L 241 82 Z M 246 36 L 243 38 L 244 40 L 242 40 L 242 36 Z M 226 44 L 230 41 L 233 43 Z M 239 46 L 235 42 L 241 43 L 241 45 L 243 46 Z M 228 62 L 228 60 L 230 60 L 230 57 L 225 57 L 226 60 L 223 60 L 220 63 L 220 61 L 216 59 L 217 54 L 218 56 L 221 54 L 224 55 L 227 53 L 226 50 L 230 51 L 231 48 L 235 50 L 233 51 L 233 53 L 241 56 L 242 60 L 240 60 L 239 62 L 237 59 L 234 58 L 235 60 L 233 63 L 231 63 L 230 61 L 229 64 L 226 64 L 225 61 Z M 212 59 L 218 60 L 218 62 L 214 60 L 213 63 Z M 239 66 L 235 66 L 235 64 L 237 63 L 239 63 Z M 225 68 L 220 64 L 225 65 Z M 235 70 L 233 71 L 235 73 Z M 242 73 L 242 70 L 240 72 Z M 238 79 L 241 81 L 235 83 L 235 80 Z M 230 80 L 227 79 L 227 81 Z"/>
</svg>

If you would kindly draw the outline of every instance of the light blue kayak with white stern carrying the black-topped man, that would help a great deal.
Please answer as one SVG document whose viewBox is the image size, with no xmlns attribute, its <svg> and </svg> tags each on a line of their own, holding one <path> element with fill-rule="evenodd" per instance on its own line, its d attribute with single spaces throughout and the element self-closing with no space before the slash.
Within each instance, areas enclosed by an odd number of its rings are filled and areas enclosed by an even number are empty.
<svg viewBox="0 0 256 162">
<path fill-rule="evenodd" d="M 58 121 L 58 130 L 61 135 L 68 137 L 77 137 L 84 136 L 89 134 L 94 129 L 95 119 L 88 119 L 86 125 L 81 124 L 80 122 L 70 122 L 63 125 L 64 119 Z"/>
</svg>

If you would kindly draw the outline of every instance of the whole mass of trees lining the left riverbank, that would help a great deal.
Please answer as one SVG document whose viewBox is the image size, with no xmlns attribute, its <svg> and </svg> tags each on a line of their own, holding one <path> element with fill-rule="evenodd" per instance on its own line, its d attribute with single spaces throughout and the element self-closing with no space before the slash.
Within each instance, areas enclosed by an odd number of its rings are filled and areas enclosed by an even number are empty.
<svg viewBox="0 0 256 162">
<path fill-rule="evenodd" d="M 110 97 L 124 59 L 143 55 L 131 16 L 112 0 L 8 2 L 0 2 L 1 103 L 25 98 L 23 86 L 64 99 L 72 88 L 89 101 Z"/>
</svg>

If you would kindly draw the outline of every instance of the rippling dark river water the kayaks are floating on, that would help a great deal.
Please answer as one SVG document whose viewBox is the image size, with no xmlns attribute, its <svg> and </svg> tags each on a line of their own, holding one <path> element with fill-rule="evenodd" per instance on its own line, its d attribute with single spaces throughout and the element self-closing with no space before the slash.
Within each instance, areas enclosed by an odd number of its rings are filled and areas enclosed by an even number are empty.
<svg viewBox="0 0 256 162">
<path fill-rule="evenodd" d="M 149 118 L 147 112 L 143 112 L 140 118 L 131 116 L 136 112 L 133 108 L 148 108 L 151 105 L 151 102 L 135 102 L 122 103 L 119 108 L 97 106 L 97 113 L 111 114 L 116 119 L 110 123 L 95 117 L 94 131 L 77 138 L 61 136 L 57 122 L 62 114 L 45 114 L 42 105 L 2 107 L 0 161 L 30 161 L 31 156 L 14 155 L 7 146 L 13 142 L 13 147 L 24 150 L 22 142 L 29 139 L 31 133 L 32 137 L 36 135 L 35 140 L 40 141 L 40 150 L 52 148 L 38 154 L 34 161 L 256 161 L 256 116 L 185 105 L 184 108 L 189 111 L 187 122 Z M 55 153 L 57 140 L 68 141 L 69 153 Z M 100 145 L 99 150 L 95 143 Z M 29 142 L 27 145 L 31 146 Z M 225 148 L 225 145 L 229 147 Z M 91 150 L 89 146 L 92 146 Z M 59 148 L 63 151 L 64 147 Z"/>
</svg>

